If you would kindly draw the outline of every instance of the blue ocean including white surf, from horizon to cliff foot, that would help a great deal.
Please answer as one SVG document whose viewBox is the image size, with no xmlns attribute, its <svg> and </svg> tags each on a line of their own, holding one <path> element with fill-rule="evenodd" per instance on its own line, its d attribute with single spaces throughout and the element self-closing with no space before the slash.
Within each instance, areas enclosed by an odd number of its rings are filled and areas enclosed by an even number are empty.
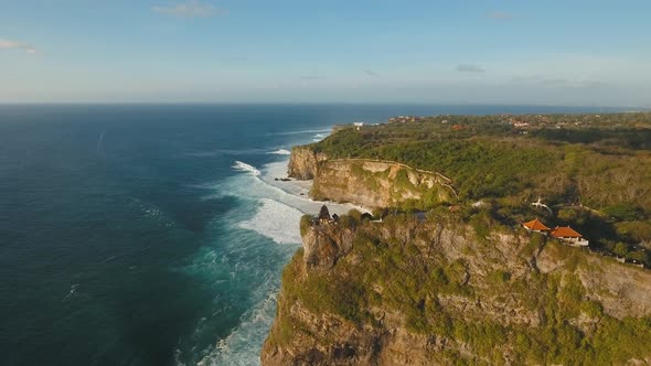
<svg viewBox="0 0 651 366">
<path fill-rule="evenodd" d="M 0 364 L 255 365 L 306 211 L 260 179 L 282 150 L 395 115 L 584 110 L 0 106 Z"/>
</svg>

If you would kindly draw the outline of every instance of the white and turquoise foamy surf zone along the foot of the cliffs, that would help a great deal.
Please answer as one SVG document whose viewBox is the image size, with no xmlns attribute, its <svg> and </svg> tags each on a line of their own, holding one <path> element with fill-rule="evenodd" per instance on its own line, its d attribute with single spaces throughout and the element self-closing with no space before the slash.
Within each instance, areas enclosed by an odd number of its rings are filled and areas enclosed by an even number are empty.
<svg viewBox="0 0 651 366">
<path fill-rule="evenodd" d="M 210 246 L 204 248 L 203 254 L 198 255 L 184 271 L 210 278 L 220 288 L 235 289 L 239 283 L 254 281 L 255 286 L 247 292 L 254 305 L 242 314 L 238 325 L 226 337 L 216 340 L 209 349 L 201 352 L 207 355 L 198 365 L 259 365 L 260 347 L 275 316 L 281 268 L 301 241 L 300 217 L 303 213 L 316 214 L 324 204 L 308 197 L 309 182 L 276 181 L 276 177 L 286 176 L 287 160 L 265 164 L 259 171 L 236 162 L 234 169 L 258 173 L 236 174 L 212 184 L 214 193 L 209 197 L 227 195 L 241 200 L 241 205 L 228 215 L 215 218 L 220 226 L 235 229 L 227 230 L 220 238 L 218 250 Z M 327 204 L 331 213 L 338 214 L 355 207 L 351 204 Z M 281 245 L 260 240 L 254 233 Z M 227 301 L 220 300 L 222 295 Z M 232 312 L 230 306 L 238 299 L 236 294 L 231 299 L 230 294 L 218 293 L 214 301 L 221 305 L 212 316 L 220 317 Z M 198 334 L 207 331 L 201 322 L 198 323 Z"/>
</svg>

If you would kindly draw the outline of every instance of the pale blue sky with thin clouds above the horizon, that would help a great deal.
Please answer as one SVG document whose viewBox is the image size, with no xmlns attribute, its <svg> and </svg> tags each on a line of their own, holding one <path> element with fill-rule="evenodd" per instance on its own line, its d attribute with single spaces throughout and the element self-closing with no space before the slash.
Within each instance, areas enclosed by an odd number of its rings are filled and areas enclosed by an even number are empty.
<svg viewBox="0 0 651 366">
<path fill-rule="evenodd" d="M 651 107 L 651 1 L 0 0 L 0 103 Z"/>
</svg>

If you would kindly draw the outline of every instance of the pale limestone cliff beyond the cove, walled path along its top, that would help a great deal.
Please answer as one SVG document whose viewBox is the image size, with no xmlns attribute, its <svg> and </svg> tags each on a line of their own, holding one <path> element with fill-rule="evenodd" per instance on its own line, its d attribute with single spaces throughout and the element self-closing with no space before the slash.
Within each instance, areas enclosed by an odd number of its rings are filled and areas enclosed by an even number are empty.
<svg viewBox="0 0 651 366">
<path fill-rule="evenodd" d="M 319 166 L 310 196 L 366 207 L 393 207 L 407 202 L 430 206 L 453 201 L 456 193 L 450 183 L 441 174 L 396 162 L 327 160 Z"/>
</svg>

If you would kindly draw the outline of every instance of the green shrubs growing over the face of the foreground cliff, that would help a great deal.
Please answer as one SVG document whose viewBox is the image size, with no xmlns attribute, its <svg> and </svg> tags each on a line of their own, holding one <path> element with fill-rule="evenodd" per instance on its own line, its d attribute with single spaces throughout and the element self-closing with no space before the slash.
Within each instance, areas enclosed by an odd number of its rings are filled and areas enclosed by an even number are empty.
<svg viewBox="0 0 651 366">
<path fill-rule="evenodd" d="M 435 222 L 437 217 L 441 219 Z M 383 326 L 373 309 L 403 314 L 409 332 L 448 340 L 449 347 L 436 357 L 450 364 L 596 365 L 623 364 L 649 356 L 651 317 L 618 320 L 606 314 L 599 302 L 590 300 L 573 274 L 578 268 L 589 268 L 584 251 L 547 244 L 545 250 L 549 250 L 549 256 L 566 262 L 568 272 L 564 274 L 535 270 L 515 274 L 506 267 L 480 274 L 466 259 L 446 257 L 433 241 L 431 233 L 444 225 L 448 229 L 456 227 L 461 236 L 467 229 L 483 236 L 501 225 L 487 211 L 459 215 L 435 211 L 427 223 L 420 224 L 409 215 L 387 216 L 382 224 L 364 223 L 355 212 L 342 219 L 356 225 L 352 251 L 328 272 L 307 274 L 301 272 L 299 251 L 282 274 L 282 306 L 300 302 L 314 314 L 341 316 L 356 329 Z M 465 229 L 463 222 L 470 223 L 470 227 Z M 490 239 L 472 243 L 469 250 L 477 254 L 470 258 L 494 251 L 495 243 Z M 543 246 L 544 237 L 532 235 L 521 248 L 520 265 L 524 266 L 532 252 Z M 469 281 L 472 276 L 478 278 Z M 469 305 L 446 305 L 450 298 Z M 540 319 L 538 325 L 504 323 L 481 310 L 471 310 L 471 304 L 489 299 L 504 303 L 515 299 L 520 304 L 515 309 L 530 311 L 529 316 Z M 291 314 L 288 309 L 280 312 L 285 316 Z M 585 319 L 589 325 L 579 325 L 578 319 Z M 289 342 L 295 332 L 311 334 L 303 326 L 299 320 L 284 319 L 271 334 L 273 342 Z M 455 347 L 470 353 L 461 354 Z"/>
</svg>

